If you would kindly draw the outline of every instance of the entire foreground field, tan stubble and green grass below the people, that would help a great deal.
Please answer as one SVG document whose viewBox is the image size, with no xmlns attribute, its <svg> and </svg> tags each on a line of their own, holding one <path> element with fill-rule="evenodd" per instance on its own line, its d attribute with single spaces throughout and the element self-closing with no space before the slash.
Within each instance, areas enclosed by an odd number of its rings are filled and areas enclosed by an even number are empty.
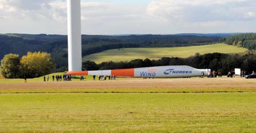
<svg viewBox="0 0 256 133">
<path fill-rule="evenodd" d="M 17 80 L 0 82 L 0 132 L 256 132 L 254 79 Z"/>
</svg>

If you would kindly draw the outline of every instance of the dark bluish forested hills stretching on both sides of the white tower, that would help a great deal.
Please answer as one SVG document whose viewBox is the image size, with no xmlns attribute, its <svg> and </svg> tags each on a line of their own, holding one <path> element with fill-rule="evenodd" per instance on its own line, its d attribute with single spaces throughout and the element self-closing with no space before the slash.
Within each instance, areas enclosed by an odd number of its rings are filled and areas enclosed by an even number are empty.
<svg viewBox="0 0 256 133">
<path fill-rule="evenodd" d="M 82 35 L 83 55 L 127 47 L 178 47 L 208 45 L 220 37 L 192 35 Z M 57 68 L 67 66 L 67 35 L 0 34 L 0 59 L 5 54 L 26 55 L 28 51 L 51 53 Z"/>
</svg>

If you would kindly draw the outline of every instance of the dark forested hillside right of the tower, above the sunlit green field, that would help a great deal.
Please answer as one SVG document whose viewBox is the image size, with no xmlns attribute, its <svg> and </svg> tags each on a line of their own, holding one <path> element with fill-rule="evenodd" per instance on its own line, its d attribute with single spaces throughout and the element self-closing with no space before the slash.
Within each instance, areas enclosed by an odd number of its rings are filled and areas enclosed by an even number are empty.
<svg viewBox="0 0 256 133">
<path fill-rule="evenodd" d="M 190 35 L 129 35 L 129 36 L 82 36 L 84 55 L 110 49 L 134 47 L 181 47 L 217 43 L 220 37 L 199 37 Z"/>
</svg>

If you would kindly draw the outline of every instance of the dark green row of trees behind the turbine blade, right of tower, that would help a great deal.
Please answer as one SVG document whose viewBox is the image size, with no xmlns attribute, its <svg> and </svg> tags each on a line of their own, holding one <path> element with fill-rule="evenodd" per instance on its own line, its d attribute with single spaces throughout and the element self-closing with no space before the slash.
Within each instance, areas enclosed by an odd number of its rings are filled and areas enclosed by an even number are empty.
<svg viewBox="0 0 256 133">
<path fill-rule="evenodd" d="M 98 65 L 91 61 L 83 62 L 83 68 L 86 68 L 86 70 L 168 65 L 188 65 L 195 68 L 210 68 L 212 71 L 221 71 L 223 74 L 227 74 L 228 71 L 234 70 L 234 68 L 241 68 L 249 74 L 251 71 L 256 70 L 256 55 L 250 53 L 245 55 L 221 53 L 199 55 L 197 53 L 195 56 L 189 58 L 163 57 L 158 60 L 134 59 L 130 62 L 102 62 Z"/>
</svg>

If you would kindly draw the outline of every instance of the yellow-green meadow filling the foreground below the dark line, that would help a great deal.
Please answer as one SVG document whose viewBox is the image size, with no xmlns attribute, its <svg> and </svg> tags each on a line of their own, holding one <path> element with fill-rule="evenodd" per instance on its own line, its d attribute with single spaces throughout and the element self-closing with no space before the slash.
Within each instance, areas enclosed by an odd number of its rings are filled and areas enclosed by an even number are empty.
<svg viewBox="0 0 256 133">
<path fill-rule="evenodd" d="M 256 93 L 1 94 L 0 132 L 256 132 Z"/>
</svg>

